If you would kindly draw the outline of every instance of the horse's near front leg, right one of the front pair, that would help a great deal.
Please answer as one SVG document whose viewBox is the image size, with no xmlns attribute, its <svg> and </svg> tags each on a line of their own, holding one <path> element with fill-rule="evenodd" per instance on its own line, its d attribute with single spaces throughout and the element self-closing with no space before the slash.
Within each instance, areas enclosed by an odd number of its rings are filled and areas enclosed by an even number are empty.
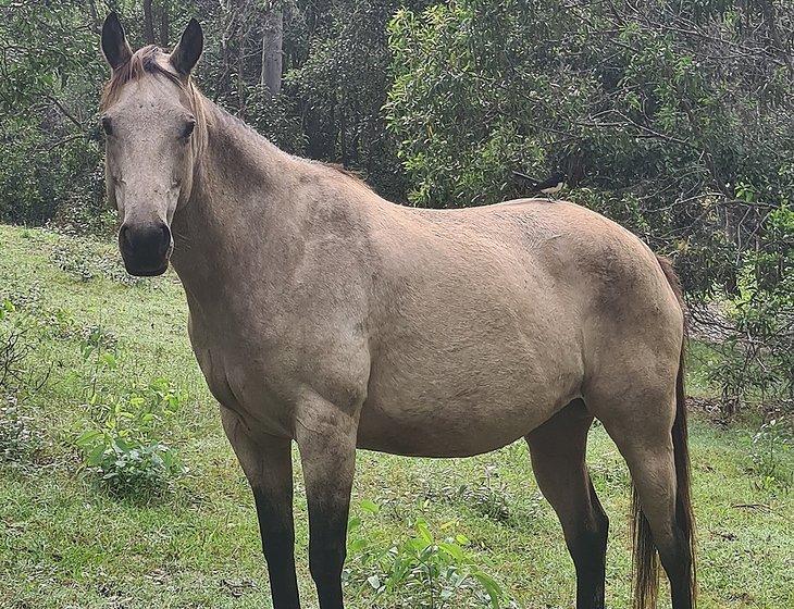
<svg viewBox="0 0 794 609">
<path fill-rule="evenodd" d="M 319 397 L 303 406 L 295 433 L 309 505 L 309 570 L 320 609 L 343 609 L 342 568 L 356 468 L 357 414 Z"/>
</svg>

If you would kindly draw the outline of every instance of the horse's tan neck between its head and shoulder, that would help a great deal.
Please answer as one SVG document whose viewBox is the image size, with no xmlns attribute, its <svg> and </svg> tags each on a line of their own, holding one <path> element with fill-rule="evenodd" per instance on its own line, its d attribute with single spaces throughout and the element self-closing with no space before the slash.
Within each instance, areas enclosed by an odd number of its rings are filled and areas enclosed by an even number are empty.
<svg viewBox="0 0 794 609">
<path fill-rule="evenodd" d="M 206 101 L 207 146 L 197 160 L 190 199 L 174 216 L 172 262 L 188 297 L 233 291 L 264 248 L 286 256 L 299 204 L 288 192 L 300 161 Z M 277 261 L 274 261 L 277 263 Z M 229 289 L 224 290 L 225 284 Z M 238 287 L 239 289 L 239 287 Z"/>
</svg>

